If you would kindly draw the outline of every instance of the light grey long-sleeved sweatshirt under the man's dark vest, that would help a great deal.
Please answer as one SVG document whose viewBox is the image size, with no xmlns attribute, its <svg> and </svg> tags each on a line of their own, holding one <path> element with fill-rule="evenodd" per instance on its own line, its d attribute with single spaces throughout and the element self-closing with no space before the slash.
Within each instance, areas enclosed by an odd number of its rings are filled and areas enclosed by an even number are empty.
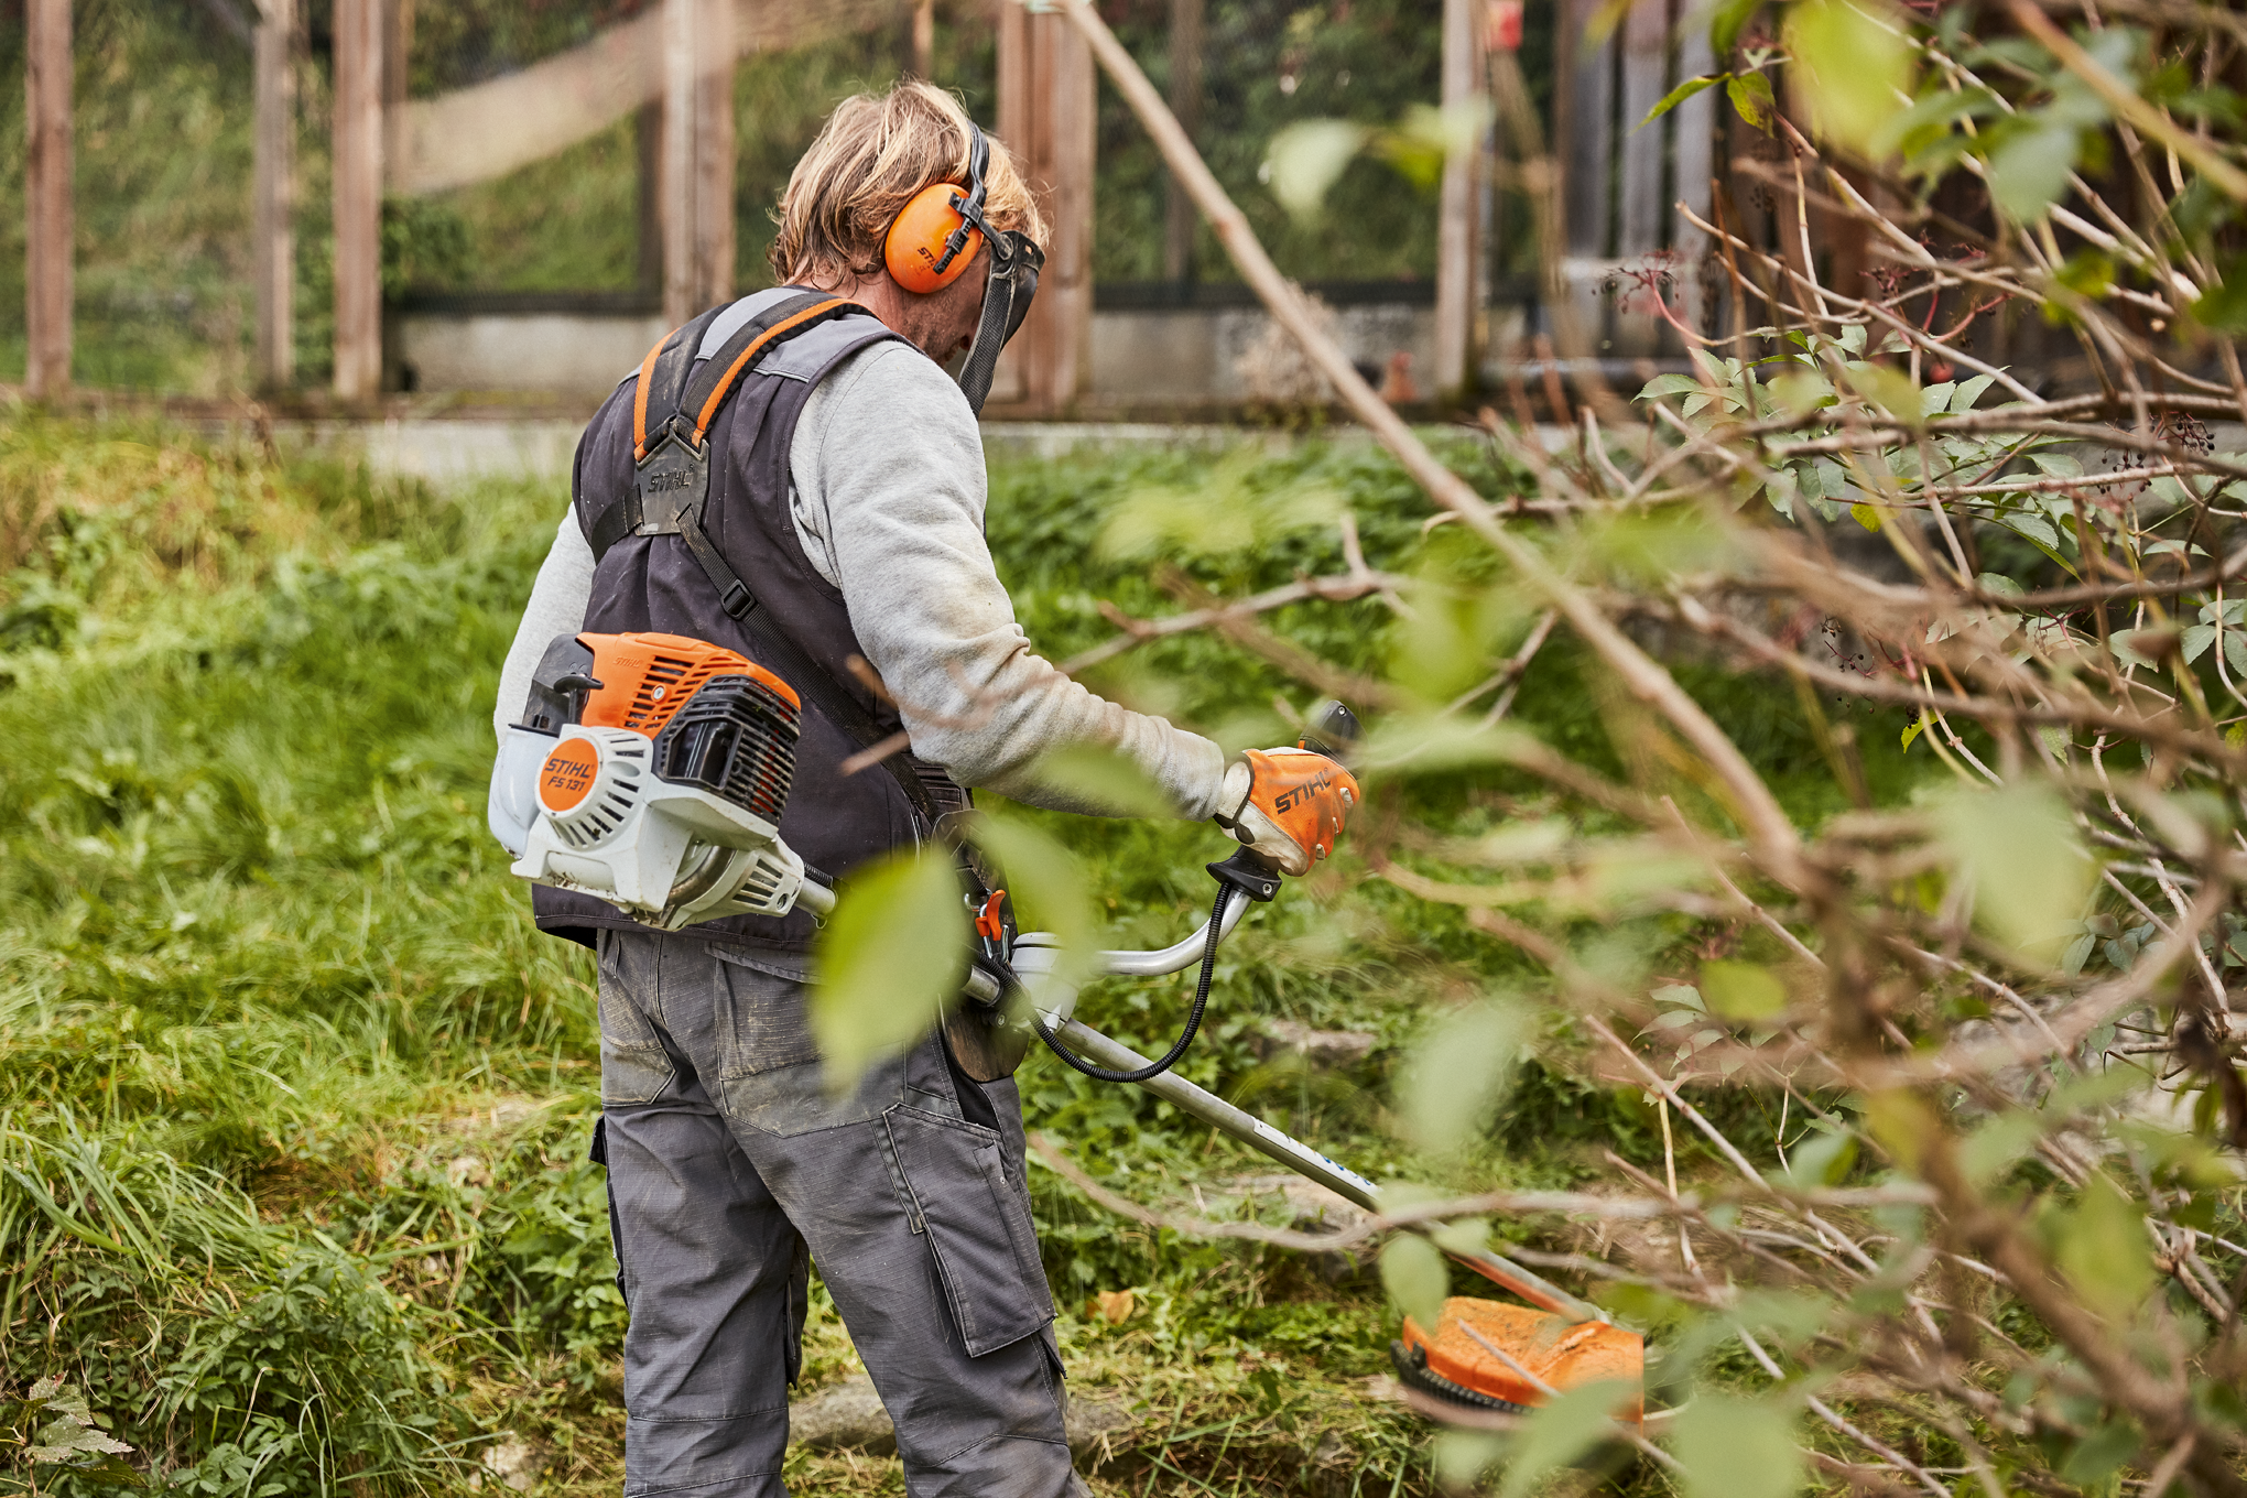
<svg viewBox="0 0 2247 1498">
<path fill-rule="evenodd" d="M 1106 748 L 1200 820 L 1225 750 L 1076 685 L 1029 649 L 991 564 L 982 433 L 959 386 L 917 348 L 874 344 L 836 368 L 789 447 L 795 535 L 843 591 L 867 663 L 897 698 L 912 752 L 964 786 L 1054 811 L 1094 811 L 1038 784 L 1040 759 Z M 499 674 L 492 728 L 524 707 L 546 642 L 584 627 L 593 552 L 564 514 Z"/>
</svg>

